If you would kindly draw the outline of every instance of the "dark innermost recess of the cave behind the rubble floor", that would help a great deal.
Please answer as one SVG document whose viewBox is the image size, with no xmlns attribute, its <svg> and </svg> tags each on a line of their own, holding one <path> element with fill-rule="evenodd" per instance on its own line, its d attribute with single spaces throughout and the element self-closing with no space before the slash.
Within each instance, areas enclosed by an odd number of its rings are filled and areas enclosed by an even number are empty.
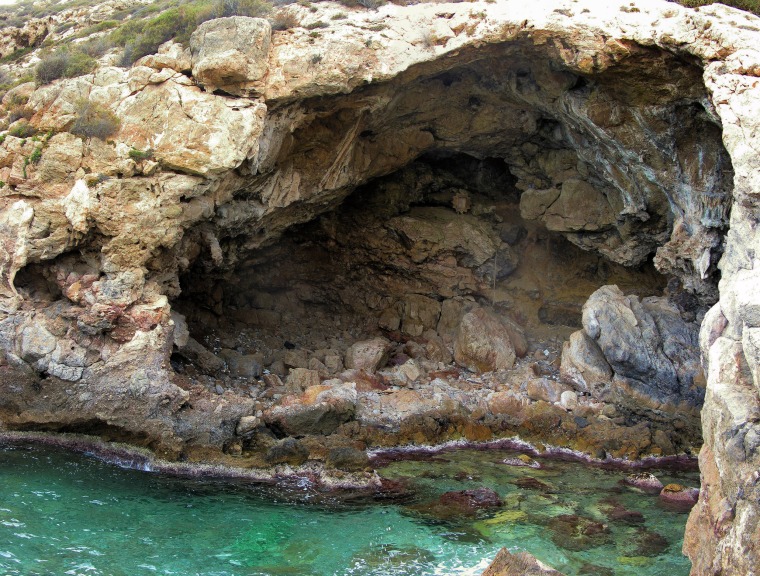
<svg viewBox="0 0 760 576">
<path fill-rule="evenodd" d="M 221 361 L 175 349 L 175 370 L 212 389 L 245 388 L 262 372 L 287 381 L 299 368 L 324 380 L 352 367 L 352 345 L 380 337 L 390 343 L 376 366 L 382 384 L 399 384 L 394 369 L 409 360 L 430 382 L 463 368 L 457 328 L 477 308 L 514 330 L 518 358 L 558 379 L 562 344 L 581 328 L 591 293 L 615 284 L 662 295 L 667 278 L 651 257 L 626 267 L 524 219 L 515 182 L 501 159 L 424 155 L 245 254 L 232 272 L 198 264 L 180 277 L 172 308 Z"/>
</svg>

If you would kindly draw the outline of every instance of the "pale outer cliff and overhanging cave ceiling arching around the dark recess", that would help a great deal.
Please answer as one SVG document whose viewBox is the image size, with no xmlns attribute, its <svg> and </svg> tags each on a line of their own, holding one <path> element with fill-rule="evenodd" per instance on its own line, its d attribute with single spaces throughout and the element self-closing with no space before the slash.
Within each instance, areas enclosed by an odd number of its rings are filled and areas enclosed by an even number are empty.
<svg viewBox="0 0 760 576">
<path fill-rule="evenodd" d="M 3 426 L 101 422 L 169 456 L 223 444 L 253 403 L 172 375 L 180 277 L 234 273 L 425 153 L 502 158 L 525 215 L 618 263 L 656 251 L 702 308 L 719 296 L 686 550 L 697 574 L 751 574 L 760 26 L 659 0 L 523 4 L 352 13 L 319 43 L 278 32 L 263 76 L 216 94 L 176 50 L 38 88 L 32 124 L 55 134 L 39 164 L 39 141 L 13 136 L 0 161 Z M 83 96 L 120 116 L 110 143 L 67 132 Z"/>
</svg>

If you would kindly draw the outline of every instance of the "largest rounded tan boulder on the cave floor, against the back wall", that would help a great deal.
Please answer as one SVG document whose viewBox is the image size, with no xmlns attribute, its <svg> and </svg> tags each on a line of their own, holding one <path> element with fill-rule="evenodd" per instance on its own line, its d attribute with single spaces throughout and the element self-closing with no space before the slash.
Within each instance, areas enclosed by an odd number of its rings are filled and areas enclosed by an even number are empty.
<svg viewBox="0 0 760 576">
<path fill-rule="evenodd" d="M 462 317 L 454 359 L 473 372 L 503 370 L 515 363 L 515 349 L 504 325 L 493 314 L 477 308 Z"/>
</svg>

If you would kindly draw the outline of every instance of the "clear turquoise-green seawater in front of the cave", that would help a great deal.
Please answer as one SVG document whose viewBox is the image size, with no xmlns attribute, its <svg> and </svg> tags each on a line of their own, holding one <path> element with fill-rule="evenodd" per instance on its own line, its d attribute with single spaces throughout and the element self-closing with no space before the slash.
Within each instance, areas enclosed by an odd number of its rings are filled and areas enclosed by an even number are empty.
<svg viewBox="0 0 760 576">
<path fill-rule="evenodd" d="M 382 474 L 404 480 L 414 495 L 390 503 L 327 501 L 302 488 L 174 478 L 49 448 L 0 446 L 0 574 L 464 575 L 480 574 L 502 546 L 568 575 L 688 574 L 680 554 L 686 515 L 621 487 L 625 472 L 503 463 L 514 455 L 458 451 L 393 463 Z M 696 472 L 655 473 L 663 482 L 698 482 Z M 482 486 L 505 506 L 468 518 L 429 506 L 447 490 Z M 644 523 L 611 521 L 615 506 L 640 512 Z M 589 542 L 573 528 L 568 535 L 571 515 L 603 521 L 609 535 L 578 549 Z"/>
</svg>

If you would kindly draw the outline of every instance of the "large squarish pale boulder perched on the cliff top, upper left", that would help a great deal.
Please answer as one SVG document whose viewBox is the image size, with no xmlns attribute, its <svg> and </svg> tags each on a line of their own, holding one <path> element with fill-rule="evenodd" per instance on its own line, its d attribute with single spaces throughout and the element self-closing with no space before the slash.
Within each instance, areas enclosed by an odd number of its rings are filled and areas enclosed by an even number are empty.
<svg viewBox="0 0 760 576">
<path fill-rule="evenodd" d="M 272 27 L 263 18 L 208 20 L 190 37 L 193 76 L 207 91 L 251 96 L 267 72 Z"/>
</svg>

